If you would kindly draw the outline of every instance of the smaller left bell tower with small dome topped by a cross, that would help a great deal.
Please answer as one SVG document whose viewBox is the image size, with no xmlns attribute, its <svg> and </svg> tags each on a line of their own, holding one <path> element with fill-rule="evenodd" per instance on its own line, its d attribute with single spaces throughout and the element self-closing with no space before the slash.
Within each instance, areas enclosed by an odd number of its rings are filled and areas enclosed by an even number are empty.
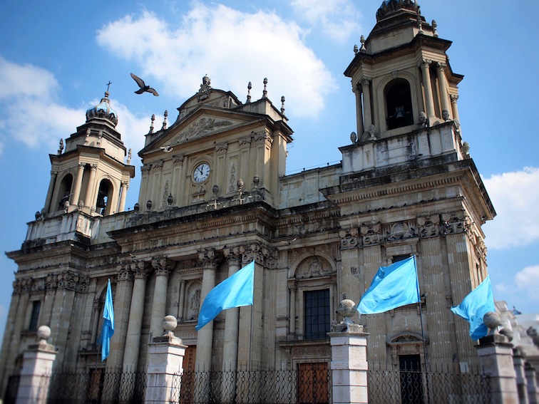
<svg viewBox="0 0 539 404">
<path fill-rule="evenodd" d="M 125 209 L 125 197 L 135 167 L 124 164 L 126 150 L 116 131 L 118 115 L 108 91 L 101 102 L 86 111 L 86 123 L 63 140 L 51 158 L 51 182 L 41 215 L 55 216 L 78 209 L 106 216 Z"/>
</svg>

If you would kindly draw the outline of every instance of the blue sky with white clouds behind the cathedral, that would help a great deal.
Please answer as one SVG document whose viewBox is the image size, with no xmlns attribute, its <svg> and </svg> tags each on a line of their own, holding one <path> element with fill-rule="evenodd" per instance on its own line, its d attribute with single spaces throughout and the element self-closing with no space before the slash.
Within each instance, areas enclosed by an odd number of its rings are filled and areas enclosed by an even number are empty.
<svg viewBox="0 0 539 404">
<path fill-rule="evenodd" d="M 43 207 L 49 153 L 85 121 L 112 81 L 136 177 L 138 150 L 150 127 L 169 122 L 207 74 L 212 87 L 268 97 L 294 130 L 287 172 L 341 159 L 337 147 L 356 130 L 354 95 L 344 77 L 354 44 L 373 28 L 381 0 L 81 1 L 4 0 L 0 24 L 0 214 L 4 252 L 21 247 L 26 222 Z M 539 312 L 539 102 L 535 1 L 419 1 L 421 14 L 453 41 L 451 68 L 463 74 L 458 108 L 498 216 L 483 226 L 494 298 L 524 313 Z M 133 72 L 159 97 L 135 95 Z M 535 129 L 535 130 L 534 130 Z M 0 257 L 0 335 L 16 265 Z M 358 296 L 359 297 L 359 296 Z"/>
</svg>

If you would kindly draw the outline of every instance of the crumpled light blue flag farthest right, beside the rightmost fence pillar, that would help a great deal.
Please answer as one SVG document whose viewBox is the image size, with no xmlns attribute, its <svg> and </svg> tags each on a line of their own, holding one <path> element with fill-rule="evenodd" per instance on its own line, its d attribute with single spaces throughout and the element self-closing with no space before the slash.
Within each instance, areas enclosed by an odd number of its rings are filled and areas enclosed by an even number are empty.
<svg viewBox="0 0 539 404">
<path fill-rule="evenodd" d="M 483 316 L 488 311 L 496 311 L 492 296 L 491 276 L 487 275 L 476 289 L 473 289 L 458 306 L 451 307 L 454 314 L 458 314 L 470 323 L 470 336 L 473 341 L 488 334 L 488 327 L 483 323 Z"/>
</svg>

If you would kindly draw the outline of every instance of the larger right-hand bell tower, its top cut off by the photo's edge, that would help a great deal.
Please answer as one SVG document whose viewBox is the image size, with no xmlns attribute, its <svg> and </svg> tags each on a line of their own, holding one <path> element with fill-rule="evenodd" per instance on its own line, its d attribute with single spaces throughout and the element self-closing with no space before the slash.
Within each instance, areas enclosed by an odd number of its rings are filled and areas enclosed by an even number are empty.
<svg viewBox="0 0 539 404">
<path fill-rule="evenodd" d="M 434 126 L 448 120 L 458 127 L 457 85 L 446 51 L 451 41 L 438 38 L 436 21 L 428 24 L 411 0 L 383 1 L 376 26 L 345 76 L 356 95 L 359 140 L 400 135 L 414 125 Z"/>
</svg>

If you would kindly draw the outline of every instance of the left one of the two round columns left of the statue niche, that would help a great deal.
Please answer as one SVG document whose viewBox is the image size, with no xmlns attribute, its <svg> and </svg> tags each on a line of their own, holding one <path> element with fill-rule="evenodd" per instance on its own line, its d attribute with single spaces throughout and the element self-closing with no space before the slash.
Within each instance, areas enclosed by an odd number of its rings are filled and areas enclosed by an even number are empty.
<svg viewBox="0 0 539 404">
<path fill-rule="evenodd" d="M 127 335 L 125 336 L 125 351 L 123 353 L 124 371 L 137 370 L 138 348 L 140 347 L 140 330 L 142 329 L 142 318 L 144 313 L 144 301 L 146 294 L 146 271 L 144 263 L 139 262 L 131 265 L 135 275 L 133 293 L 131 294 L 131 305 L 129 309 L 129 323 Z"/>
</svg>

